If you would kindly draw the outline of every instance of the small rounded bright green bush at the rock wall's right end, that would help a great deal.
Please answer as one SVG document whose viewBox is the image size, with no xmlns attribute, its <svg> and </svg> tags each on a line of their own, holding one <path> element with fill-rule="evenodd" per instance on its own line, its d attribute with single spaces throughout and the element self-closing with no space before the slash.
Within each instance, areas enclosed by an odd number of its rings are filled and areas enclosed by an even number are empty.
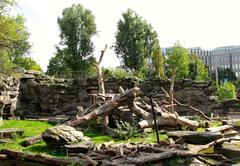
<svg viewBox="0 0 240 166">
<path fill-rule="evenodd" d="M 231 82 L 224 83 L 217 91 L 218 99 L 234 99 L 236 98 L 235 86 Z"/>
</svg>

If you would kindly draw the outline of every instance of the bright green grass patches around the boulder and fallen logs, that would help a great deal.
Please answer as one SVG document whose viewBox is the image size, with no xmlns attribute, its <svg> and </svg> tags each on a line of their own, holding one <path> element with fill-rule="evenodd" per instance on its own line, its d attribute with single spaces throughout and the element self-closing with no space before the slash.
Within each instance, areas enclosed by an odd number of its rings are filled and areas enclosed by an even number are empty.
<svg viewBox="0 0 240 166">
<path fill-rule="evenodd" d="M 54 157 L 63 157 L 65 152 L 61 150 L 49 149 L 44 141 L 31 145 L 29 147 L 23 147 L 21 144 L 25 138 L 41 134 L 45 129 L 52 127 L 53 125 L 47 122 L 27 121 L 27 120 L 6 120 L 4 124 L 0 126 L 0 129 L 5 128 L 21 128 L 24 130 L 24 134 L 21 137 L 14 139 L 12 143 L 0 143 L 1 149 L 10 149 L 24 152 L 47 154 Z M 85 136 L 92 139 L 95 144 L 101 144 L 104 142 L 114 141 L 115 143 L 127 143 L 127 142 L 146 142 L 155 143 L 157 138 L 155 132 L 144 135 L 143 137 L 130 138 L 123 140 L 120 138 L 113 138 L 110 135 L 104 135 L 97 131 L 86 129 L 83 131 Z M 160 140 L 165 140 L 168 137 L 164 133 L 159 134 Z"/>
</svg>

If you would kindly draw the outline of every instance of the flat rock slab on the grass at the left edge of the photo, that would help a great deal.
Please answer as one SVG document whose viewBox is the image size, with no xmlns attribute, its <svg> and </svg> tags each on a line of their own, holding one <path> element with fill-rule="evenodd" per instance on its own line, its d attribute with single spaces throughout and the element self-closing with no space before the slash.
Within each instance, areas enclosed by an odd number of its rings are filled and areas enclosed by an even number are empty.
<svg viewBox="0 0 240 166">
<path fill-rule="evenodd" d="M 0 138 L 15 138 L 16 136 L 22 136 L 24 133 L 23 129 L 8 128 L 0 130 Z"/>
</svg>

